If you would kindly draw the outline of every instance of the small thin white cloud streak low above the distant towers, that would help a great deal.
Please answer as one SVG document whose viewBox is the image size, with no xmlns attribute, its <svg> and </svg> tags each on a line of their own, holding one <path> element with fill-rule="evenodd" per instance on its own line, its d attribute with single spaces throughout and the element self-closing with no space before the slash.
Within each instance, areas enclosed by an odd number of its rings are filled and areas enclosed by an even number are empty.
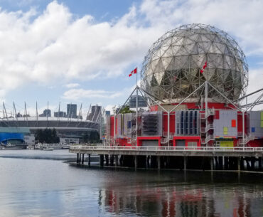
<svg viewBox="0 0 263 217">
<path fill-rule="evenodd" d="M 78 100 L 80 98 L 114 98 L 122 95 L 122 92 L 106 91 L 106 90 L 84 90 L 70 89 L 64 92 L 63 98 L 67 100 Z"/>
</svg>

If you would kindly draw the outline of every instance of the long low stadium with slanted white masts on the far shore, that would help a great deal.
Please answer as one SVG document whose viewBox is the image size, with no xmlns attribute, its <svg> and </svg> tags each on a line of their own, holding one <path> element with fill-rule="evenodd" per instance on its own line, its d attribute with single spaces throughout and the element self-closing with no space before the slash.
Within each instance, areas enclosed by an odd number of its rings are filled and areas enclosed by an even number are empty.
<svg viewBox="0 0 263 217">
<path fill-rule="evenodd" d="M 38 129 L 55 129 L 60 142 L 65 144 L 78 144 L 82 142 L 85 134 L 100 131 L 102 117 L 100 106 L 90 106 L 85 120 L 82 115 L 76 114 L 77 105 L 75 105 L 75 110 L 72 109 L 74 108 L 72 104 L 69 104 L 68 107 L 70 108 L 67 111 L 68 115 L 59 111 L 54 113 L 57 117 L 51 117 L 50 110 L 46 109 L 43 114 L 38 115 L 36 112 L 36 115 L 31 117 L 28 114 L 20 115 L 19 113 L 9 115 L 4 106 L 4 115 L 0 119 L 1 144 L 35 144 L 35 134 Z"/>
</svg>

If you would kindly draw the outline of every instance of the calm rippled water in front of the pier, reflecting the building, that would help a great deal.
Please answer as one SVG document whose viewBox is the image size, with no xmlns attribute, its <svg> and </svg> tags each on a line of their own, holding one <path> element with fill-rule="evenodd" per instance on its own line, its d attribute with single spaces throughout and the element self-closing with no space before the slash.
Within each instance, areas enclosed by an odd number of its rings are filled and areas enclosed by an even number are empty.
<svg viewBox="0 0 263 217">
<path fill-rule="evenodd" d="M 55 159 L 55 160 L 54 160 Z M 0 151 L 0 216 L 263 216 L 263 174 L 100 169 Z"/>
</svg>

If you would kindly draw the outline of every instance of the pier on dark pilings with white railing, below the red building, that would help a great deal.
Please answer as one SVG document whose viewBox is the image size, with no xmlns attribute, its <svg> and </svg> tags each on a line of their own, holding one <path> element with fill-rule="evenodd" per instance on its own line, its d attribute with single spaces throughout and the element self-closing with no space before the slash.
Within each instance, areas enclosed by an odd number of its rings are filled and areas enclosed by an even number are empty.
<svg viewBox="0 0 263 217">
<path fill-rule="evenodd" d="M 100 166 L 128 166 L 153 169 L 203 169 L 263 171 L 263 147 L 122 147 L 71 146 L 77 163 L 85 154 L 100 156 Z"/>
</svg>

